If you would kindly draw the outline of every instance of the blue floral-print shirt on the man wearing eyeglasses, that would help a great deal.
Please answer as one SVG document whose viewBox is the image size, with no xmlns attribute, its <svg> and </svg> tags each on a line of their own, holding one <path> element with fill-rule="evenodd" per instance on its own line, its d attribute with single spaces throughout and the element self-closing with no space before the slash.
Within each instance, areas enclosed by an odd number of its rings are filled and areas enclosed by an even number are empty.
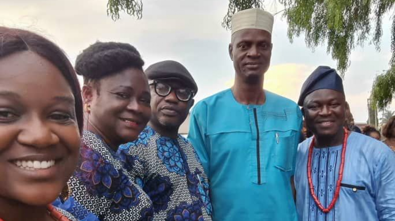
<svg viewBox="0 0 395 221">
<path fill-rule="evenodd" d="M 117 154 L 152 200 L 155 221 L 211 221 L 209 182 L 194 148 L 181 135 L 164 137 L 145 127 Z"/>
</svg>

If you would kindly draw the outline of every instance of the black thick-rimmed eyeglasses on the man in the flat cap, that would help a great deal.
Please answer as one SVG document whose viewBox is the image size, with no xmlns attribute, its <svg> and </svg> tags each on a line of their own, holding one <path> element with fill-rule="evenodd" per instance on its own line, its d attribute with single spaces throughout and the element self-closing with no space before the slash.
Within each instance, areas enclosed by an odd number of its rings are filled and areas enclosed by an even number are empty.
<svg viewBox="0 0 395 221">
<path fill-rule="evenodd" d="M 159 81 L 150 81 L 149 85 L 154 85 L 155 87 L 155 93 L 158 94 L 159 96 L 166 97 L 167 95 L 170 94 L 171 90 L 175 91 L 175 96 L 177 99 L 180 101 L 189 101 L 192 99 L 192 97 L 195 96 L 195 92 L 191 90 L 190 88 L 171 88 L 169 84 L 166 84 L 164 82 L 159 82 Z"/>
</svg>

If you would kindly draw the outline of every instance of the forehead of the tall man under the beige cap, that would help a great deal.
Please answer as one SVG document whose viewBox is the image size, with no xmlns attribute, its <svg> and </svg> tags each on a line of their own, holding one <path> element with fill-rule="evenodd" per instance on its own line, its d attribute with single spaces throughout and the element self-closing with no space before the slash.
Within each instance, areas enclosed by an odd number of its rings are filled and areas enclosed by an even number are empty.
<svg viewBox="0 0 395 221">
<path fill-rule="evenodd" d="M 271 34 L 261 29 L 242 29 L 232 35 L 232 42 L 241 41 L 269 41 L 271 42 Z"/>
</svg>

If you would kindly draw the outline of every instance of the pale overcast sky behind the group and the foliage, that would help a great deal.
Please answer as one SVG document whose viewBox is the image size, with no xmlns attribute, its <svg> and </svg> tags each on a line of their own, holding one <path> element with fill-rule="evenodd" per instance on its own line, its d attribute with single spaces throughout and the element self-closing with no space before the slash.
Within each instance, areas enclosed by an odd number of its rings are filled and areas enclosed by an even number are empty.
<svg viewBox="0 0 395 221">
<path fill-rule="evenodd" d="M 119 41 L 134 45 L 145 67 L 161 60 L 181 62 L 198 83 L 196 100 L 229 88 L 234 70 L 228 56 L 230 32 L 221 22 L 228 0 L 143 0 L 143 18 L 121 14 L 114 22 L 106 13 L 107 0 L 1 0 L 0 24 L 33 30 L 55 41 L 74 64 L 83 49 L 95 41 Z M 268 0 L 275 13 L 282 6 Z M 344 88 L 356 122 L 367 121 L 367 98 L 372 81 L 388 69 L 391 57 L 390 16 L 383 19 L 381 51 L 369 41 L 351 54 Z M 301 85 L 320 65 L 336 67 L 322 45 L 314 52 L 304 36 L 290 43 L 287 23 L 275 16 L 271 67 L 264 88 L 297 101 Z M 395 102 L 391 109 L 395 110 Z"/>
</svg>

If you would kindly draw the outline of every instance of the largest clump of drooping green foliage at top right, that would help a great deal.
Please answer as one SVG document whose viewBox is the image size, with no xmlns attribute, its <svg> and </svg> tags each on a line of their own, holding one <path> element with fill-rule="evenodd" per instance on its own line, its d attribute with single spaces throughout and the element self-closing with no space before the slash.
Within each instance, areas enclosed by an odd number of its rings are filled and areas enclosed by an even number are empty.
<svg viewBox="0 0 395 221">
<path fill-rule="evenodd" d="M 308 47 L 327 43 L 327 52 L 337 60 L 337 69 L 344 75 L 350 65 L 350 52 L 355 45 L 370 39 L 380 50 L 382 18 L 395 0 L 280 0 L 285 5 L 288 37 L 305 34 Z M 392 25 L 392 60 L 395 52 L 395 19 Z M 373 35 L 370 37 L 372 26 Z M 390 63 L 392 65 L 392 62 Z"/>
</svg>

